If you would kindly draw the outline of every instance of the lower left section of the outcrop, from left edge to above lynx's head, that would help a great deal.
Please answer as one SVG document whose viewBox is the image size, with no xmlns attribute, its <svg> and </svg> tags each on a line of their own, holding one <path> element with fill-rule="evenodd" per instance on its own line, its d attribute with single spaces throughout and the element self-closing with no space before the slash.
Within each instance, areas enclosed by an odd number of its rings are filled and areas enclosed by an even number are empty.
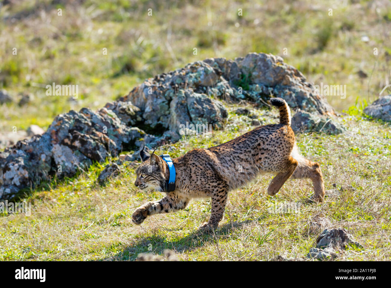
<svg viewBox="0 0 391 288">
<path fill-rule="evenodd" d="M 14 197 L 20 189 L 54 175 L 70 177 L 92 161 L 133 147 L 144 135 L 106 108 L 60 114 L 42 136 L 18 141 L 0 153 L 0 199 Z"/>
</svg>

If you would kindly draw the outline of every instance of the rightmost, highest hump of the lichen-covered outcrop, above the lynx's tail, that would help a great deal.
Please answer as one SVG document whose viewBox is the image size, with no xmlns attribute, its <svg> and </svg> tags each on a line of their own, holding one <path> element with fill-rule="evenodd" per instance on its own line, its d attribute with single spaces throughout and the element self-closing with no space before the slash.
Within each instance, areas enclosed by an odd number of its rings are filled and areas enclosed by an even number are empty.
<svg viewBox="0 0 391 288">
<path fill-rule="evenodd" d="M 221 71 L 222 78 L 231 84 L 236 99 L 264 103 L 273 95 L 285 99 L 294 110 L 335 115 L 327 100 L 317 94 L 314 85 L 279 56 L 249 53 L 235 60 L 209 58 L 203 62 Z M 239 87 L 243 90 L 241 94 Z"/>
</svg>

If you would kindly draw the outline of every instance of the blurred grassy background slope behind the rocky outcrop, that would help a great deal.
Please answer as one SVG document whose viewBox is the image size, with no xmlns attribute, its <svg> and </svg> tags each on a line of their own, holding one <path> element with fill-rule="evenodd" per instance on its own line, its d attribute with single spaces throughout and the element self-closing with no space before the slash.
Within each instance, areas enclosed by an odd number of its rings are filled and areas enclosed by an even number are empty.
<svg viewBox="0 0 391 288">
<path fill-rule="evenodd" d="M 0 89 L 16 100 L 21 92 L 35 99 L 23 107 L 3 105 L 0 130 L 47 127 L 61 112 L 102 107 L 146 77 L 208 57 L 282 56 L 311 82 L 346 85 L 346 99 L 326 96 L 339 111 L 357 98 L 377 98 L 391 76 L 391 4 L 385 0 L 5 3 Z M 79 85 L 79 98 L 46 96 L 53 82 Z"/>
</svg>

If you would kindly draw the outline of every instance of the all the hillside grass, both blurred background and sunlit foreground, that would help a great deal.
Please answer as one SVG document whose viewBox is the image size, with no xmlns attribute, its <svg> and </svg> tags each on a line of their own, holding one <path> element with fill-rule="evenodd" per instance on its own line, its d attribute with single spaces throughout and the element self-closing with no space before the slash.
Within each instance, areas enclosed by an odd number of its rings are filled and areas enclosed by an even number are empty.
<svg viewBox="0 0 391 288">
<path fill-rule="evenodd" d="M 266 175 L 230 194 L 214 234 L 197 230 L 210 216 L 209 199 L 136 226 L 134 210 L 164 194 L 136 189 L 135 165 L 122 166 L 118 178 L 98 185 L 104 165 L 117 160 L 107 159 L 74 178 L 26 190 L 21 201 L 32 202 L 31 216 L 0 213 L 0 260 L 134 260 L 141 252 L 161 255 L 167 248 L 181 260 L 299 259 L 324 227 L 346 228 L 364 246 L 341 252 L 338 260 L 390 259 L 391 128 L 361 115 L 391 77 L 389 1 L 3 2 L 0 89 L 16 102 L 0 106 L 0 132 L 31 124 L 45 128 L 57 114 L 100 108 L 144 78 L 208 57 L 249 52 L 282 56 L 315 84 L 346 85 L 346 99 L 325 97 L 348 114 L 335 120 L 346 127 L 344 134 L 296 135 L 302 154 L 321 164 L 323 203 L 308 202 L 312 183 L 307 180 L 287 181 L 270 197 L 272 176 Z M 79 85 L 79 98 L 47 96 L 45 86 L 52 82 Z M 19 107 L 22 92 L 34 99 Z M 275 109 L 244 106 L 262 124 L 278 121 Z M 235 114 L 237 105 L 227 107 L 224 129 L 209 138 L 184 136 L 159 152 L 176 157 L 253 128 L 251 118 Z M 300 213 L 271 212 L 280 203 L 300 205 Z"/>
</svg>

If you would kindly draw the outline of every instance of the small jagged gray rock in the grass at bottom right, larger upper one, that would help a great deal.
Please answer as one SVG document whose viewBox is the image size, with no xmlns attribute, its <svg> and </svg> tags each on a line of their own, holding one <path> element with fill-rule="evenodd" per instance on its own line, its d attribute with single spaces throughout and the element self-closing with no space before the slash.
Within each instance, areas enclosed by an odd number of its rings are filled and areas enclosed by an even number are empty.
<svg viewBox="0 0 391 288">
<path fill-rule="evenodd" d="M 325 229 L 316 239 L 316 248 L 325 248 L 330 245 L 343 249 L 348 245 L 362 248 L 362 245 L 355 241 L 353 236 L 343 228 Z"/>
</svg>

